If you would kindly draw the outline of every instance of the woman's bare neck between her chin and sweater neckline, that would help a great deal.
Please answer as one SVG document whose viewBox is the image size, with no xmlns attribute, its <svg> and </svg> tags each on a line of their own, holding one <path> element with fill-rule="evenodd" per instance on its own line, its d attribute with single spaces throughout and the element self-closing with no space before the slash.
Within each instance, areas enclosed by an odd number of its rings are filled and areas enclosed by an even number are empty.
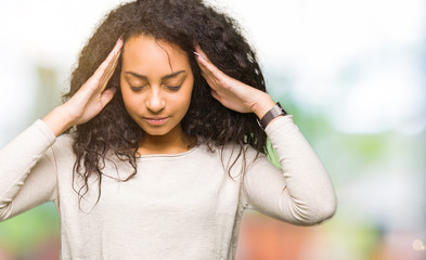
<svg viewBox="0 0 426 260">
<path fill-rule="evenodd" d="M 177 126 L 164 135 L 144 134 L 139 143 L 138 153 L 149 154 L 178 154 L 190 150 L 190 140 L 183 134 L 182 128 Z"/>
</svg>

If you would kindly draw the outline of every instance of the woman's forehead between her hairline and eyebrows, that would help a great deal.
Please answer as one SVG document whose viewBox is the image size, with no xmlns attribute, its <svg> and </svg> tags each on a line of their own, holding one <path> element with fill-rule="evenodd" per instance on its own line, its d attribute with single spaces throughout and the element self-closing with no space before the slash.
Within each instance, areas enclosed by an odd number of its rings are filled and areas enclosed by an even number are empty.
<svg viewBox="0 0 426 260">
<path fill-rule="evenodd" d="M 190 69 L 190 62 L 178 46 L 142 35 L 125 42 L 121 66 L 122 70 L 157 76 Z"/>
</svg>

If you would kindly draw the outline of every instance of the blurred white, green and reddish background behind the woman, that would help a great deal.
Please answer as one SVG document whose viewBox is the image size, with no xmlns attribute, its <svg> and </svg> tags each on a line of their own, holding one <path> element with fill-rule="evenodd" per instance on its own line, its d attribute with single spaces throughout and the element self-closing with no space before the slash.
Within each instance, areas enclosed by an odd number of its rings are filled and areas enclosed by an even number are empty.
<svg viewBox="0 0 426 260">
<path fill-rule="evenodd" d="M 0 146 L 68 88 L 79 50 L 118 0 L 0 0 Z M 269 92 L 328 170 L 333 219 L 244 214 L 244 260 L 426 259 L 426 2 L 210 0 L 258 51 Z M 59 259 L 53 203 L 0 223 L 0 260 Z"/>
</svg>

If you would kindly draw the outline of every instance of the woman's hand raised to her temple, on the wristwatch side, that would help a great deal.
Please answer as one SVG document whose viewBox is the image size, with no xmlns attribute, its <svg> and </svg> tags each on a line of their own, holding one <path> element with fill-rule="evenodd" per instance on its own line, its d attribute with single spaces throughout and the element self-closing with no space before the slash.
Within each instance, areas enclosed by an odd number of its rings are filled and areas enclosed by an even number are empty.
<svg viewBox="0 0 426 260">
<path fill-rule="evenodd" d="M 255 113 L 261 118 L 275 103 L 271 96 L 222 73 L 199 47 L 195 47 L 202 75 L 211 88 L 211 95 L 225 107 L 240 113 Z"/>
</svg>

